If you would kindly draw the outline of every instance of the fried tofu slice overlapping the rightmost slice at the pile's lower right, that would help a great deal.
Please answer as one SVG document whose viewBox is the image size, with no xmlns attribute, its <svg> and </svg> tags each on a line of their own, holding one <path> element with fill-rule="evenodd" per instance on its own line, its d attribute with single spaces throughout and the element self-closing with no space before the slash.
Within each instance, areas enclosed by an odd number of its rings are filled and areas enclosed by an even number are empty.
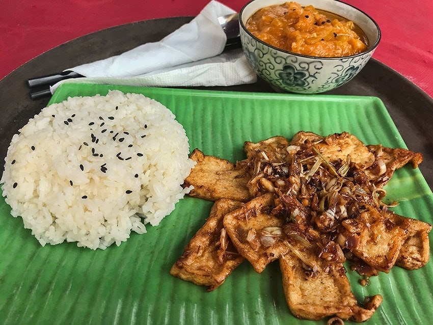
<svg viewBox="0 0 433 325">
<path fill-rule="evenodd" d="M 385 273 L 394 266 L 408 230 L 392 222 L 393 212 L 366 210 L 341 222 L 338 243 L 368 265 Z"/>
</svg>

